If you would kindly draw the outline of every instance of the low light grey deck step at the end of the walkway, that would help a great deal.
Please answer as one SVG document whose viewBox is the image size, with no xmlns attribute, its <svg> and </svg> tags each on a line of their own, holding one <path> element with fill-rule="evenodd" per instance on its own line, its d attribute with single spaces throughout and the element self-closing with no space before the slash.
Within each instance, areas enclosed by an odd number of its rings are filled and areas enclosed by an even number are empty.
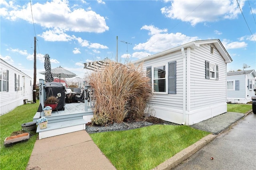
<svg viewBox="0 0 256 170">
<path fill-rule="evenodd" d="M 40 129 L 40 127 L 37 126 L 36 133 L 39 133 L 39 139 L 43 139 L 46 137 L 85 130 L 85 124 L 86 121 L 84 119 L 48 123 L 46 129 Z"/>
</svg>

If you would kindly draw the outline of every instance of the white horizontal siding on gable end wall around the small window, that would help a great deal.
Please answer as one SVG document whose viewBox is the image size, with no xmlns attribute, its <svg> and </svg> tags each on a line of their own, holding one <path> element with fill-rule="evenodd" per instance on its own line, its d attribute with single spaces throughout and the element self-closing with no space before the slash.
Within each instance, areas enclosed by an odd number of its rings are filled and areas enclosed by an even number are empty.
<svg viewBox="0 0 256 170">
<path fill-rule="evenodd" d="M 226 63 L 216 48 L 214 55 L 209 53 L 209 49 L 210 45 L 202 45 L 191 50 L 191 110 L 226 103 Z M 218 65 L 218 80 L 206 79 L 206 61 Z"/>
</svg>

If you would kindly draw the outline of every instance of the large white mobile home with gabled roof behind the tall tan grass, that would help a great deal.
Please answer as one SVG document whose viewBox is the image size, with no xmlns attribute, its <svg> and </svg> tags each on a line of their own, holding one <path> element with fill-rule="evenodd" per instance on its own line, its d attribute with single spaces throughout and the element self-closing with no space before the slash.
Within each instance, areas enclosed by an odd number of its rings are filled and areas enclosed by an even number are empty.
<svg viewBox="0 0 256 170">
<path fill-rule="evenodd" d="M 158 118 L 192 125 L 227 111 L 226 64 L 219 39 L 193 41 L 133 62 L 151 78 Z"/>
</svg>

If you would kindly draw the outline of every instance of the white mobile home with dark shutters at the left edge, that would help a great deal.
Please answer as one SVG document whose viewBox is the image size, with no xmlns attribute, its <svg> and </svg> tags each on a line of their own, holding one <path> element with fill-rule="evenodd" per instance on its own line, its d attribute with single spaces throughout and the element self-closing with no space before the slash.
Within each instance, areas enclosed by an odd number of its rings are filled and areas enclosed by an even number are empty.
<svg viewBox="0 0 256 170">
<path fill-rule="evenodd" d="M 0 59 L 0 115 L 32 100 L 32 78 Z"/>
</svg>

